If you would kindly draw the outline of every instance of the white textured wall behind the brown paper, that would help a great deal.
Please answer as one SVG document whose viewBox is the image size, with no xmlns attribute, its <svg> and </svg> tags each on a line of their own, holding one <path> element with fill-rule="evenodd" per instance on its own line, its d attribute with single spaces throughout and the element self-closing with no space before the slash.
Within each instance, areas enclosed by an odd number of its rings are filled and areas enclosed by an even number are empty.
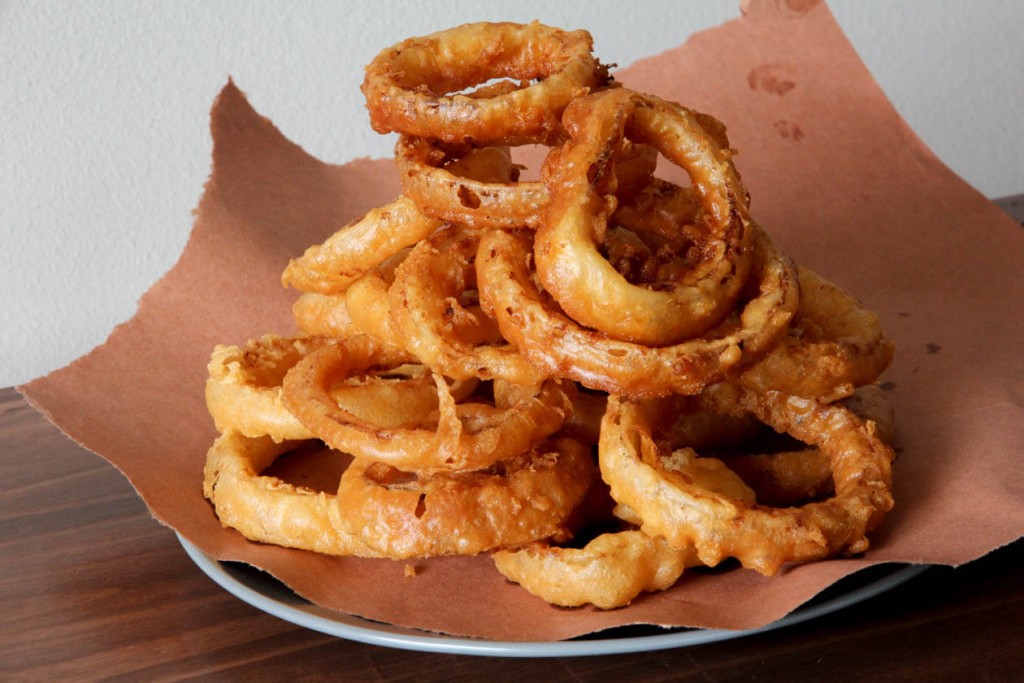
<svg viewBox="0 0 1024 683">
<path fill-rule="evenodd" d="M 424 3 L 0 0 L 0 386 L 128 319 L 184 245 L 228 76 L 326 161 L 390 154 L 358 91 L 397 40 L 480 19 L 585 28 L 626 66 L 738 15 L 739 0 Z M 896 108 L 982 193 L 1024 191 L 1024 3 L 833 0 Z"/>
</svg>

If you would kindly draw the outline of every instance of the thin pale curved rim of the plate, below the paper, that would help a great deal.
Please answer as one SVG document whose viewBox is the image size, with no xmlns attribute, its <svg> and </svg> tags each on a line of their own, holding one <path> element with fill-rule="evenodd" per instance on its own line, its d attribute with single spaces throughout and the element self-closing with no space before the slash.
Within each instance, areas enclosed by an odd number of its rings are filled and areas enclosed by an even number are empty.
<svg viewBox="0 0 1024 683">
<path fill-rule="evenodd" d="M 265 595 L 242 579 L 239 579 L 229 569 L 225 568 L 221 561 L 204 553 L 180 533 L 176 533 L 175 536 L 184 549 L 185 554 L 210 580 L 236 598 L 278 618 L 311 631 L 370 645 L 421 652 L 479 656 L 553 657 L 626 654 L 689 647 L 722 640 L 744 638 L 795 626 L 845 609 L 846 607 L 890 591 L 910 581 L 931 566 L 929 564 L 907 564 L 900 566 L 899 563 L 892 563 L 896 568 L 891 573 L 887 573 L 880 579 L 870 581 L 822 602 L 798 607 L 782 618 L 756 629 L 736 631 L 724 629 L 673 629 L 668 630 L 664 634 L 644 636 L 601 638 L 598 634 L 594 637 L 588 636 L 584 640 L 496 641 L 406 629 L 345 612 L 330 610 L 312 603 L 305 603 L 301 607 L 290 605 Z M 889 564 L 874 566 L 887 566 Z M 252 568 L 260 571 L 258 567 Z M 283 590 L 288 590 L 284 584 L 282 584 L 282 588 Z M 296 600 L 301 600 L 301 598 L 296 596 Z"/>
</svg>

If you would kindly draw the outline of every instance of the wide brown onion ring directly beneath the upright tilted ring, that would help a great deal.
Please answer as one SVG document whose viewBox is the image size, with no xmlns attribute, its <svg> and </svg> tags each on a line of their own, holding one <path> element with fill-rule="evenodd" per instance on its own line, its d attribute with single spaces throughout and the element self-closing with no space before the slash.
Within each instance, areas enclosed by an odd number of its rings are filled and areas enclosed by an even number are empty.
<svg viewBox="0 0 1024 683">
<path fill-rule="evenodd" d="M 782 335 L 800 298 L 796 270 L 772 240 L 752 223 L 754 265 L 750 300 L 736 321 L 706 338 L 649 347 L 608 339 L 582 328 L 542 298 L 528 269 L 528 232 L 485 232 L 476 258 L 484 309 L 502 334 L 552 377 L 632 396 L 698 393 L 763 357 Z"/>
</svg>

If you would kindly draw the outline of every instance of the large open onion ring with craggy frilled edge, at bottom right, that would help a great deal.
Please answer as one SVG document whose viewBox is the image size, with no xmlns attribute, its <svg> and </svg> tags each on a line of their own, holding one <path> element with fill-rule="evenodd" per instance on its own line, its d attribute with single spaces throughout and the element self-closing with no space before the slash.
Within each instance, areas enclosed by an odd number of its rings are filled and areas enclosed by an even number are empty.
<svg viewBox="0 0 1024 683">
<path fill-rule="evenodd" d="M 601 472 L 612 498 L 640 515 L 645 531 L 680 548 L 694 546 L 710 566 L 735 557 L 764 574 L 788 562 L 867 549 L 866 535 L 893 505 L 893 451 L 873 423 L 838 403 L 778 392 L 759 395 L 721 384 L 709 394 L 717 410 L 753 413 L 819 447 L 831 463 L 836 494 L 799 508 L 768 508 L 666 477 L 641 403 L 613 396 L 601 425 Z"/>
</svg>

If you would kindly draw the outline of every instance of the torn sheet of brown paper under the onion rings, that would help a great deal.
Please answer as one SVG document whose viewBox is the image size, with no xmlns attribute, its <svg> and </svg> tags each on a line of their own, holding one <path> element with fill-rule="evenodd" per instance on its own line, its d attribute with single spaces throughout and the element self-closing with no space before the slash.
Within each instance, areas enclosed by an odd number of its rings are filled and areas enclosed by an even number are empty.
<svg viewBox="0 0 1024 683">
<path fill-rule="evenodd" d="M 259 546 L 222 529 L 201 490 L 215 435 L 203 398 L 210 350 L 293 331 L 296 294 L 279 284 L 288 259 L 398 191 L 390 161 L 322 163 L 231 83 L 213 106 L 213 171 L 179 262 L 102 346 L 20 391 L 207 554 L 266 569 L 327 607 L 450 634 L 753 628 L 872 563 L 956 565 L 1020 538 L 1024 231 L 915 137 L 827 7 L 751 0 L 742 9 L 616 77 L 726 122 L 756 218 L 798 262 L 878 310 L 896 340 L 884 379 L 900 431 L 897 507 L 864 557 L 770 579 L 691 572 L 600 611 L 550 607 L 486 557 L 416 562 L 406 578 L 401 562 Z"/>
</svg>

